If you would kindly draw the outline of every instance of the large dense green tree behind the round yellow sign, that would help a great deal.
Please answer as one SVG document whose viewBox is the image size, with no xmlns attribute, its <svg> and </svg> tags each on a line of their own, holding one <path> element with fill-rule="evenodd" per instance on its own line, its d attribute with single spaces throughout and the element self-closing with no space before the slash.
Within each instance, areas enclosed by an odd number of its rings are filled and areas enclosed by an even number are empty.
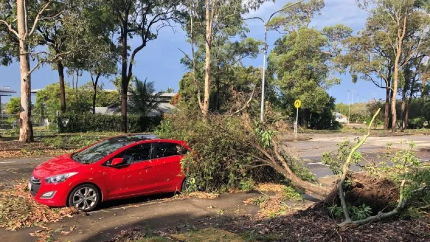
<svg viewBox="0 0 430 242">
<path fill-rule="evenodd" d="M 269 23 L 270 28 L 282 28 L 286 34 L 275 42 L 268 71 L 273 75 L 284 111 L 291 114 L 294 100 L 302 100 L 300 119 L 305 128 L 320 123 L 327 113 L 328 123 L 331 121 L 332 114 L 326 107 L 334 109 L 334 100 L 326 90 L 340 82 L 334 74 L 343 68 L 336 60 L 342 41 L 352 32 L 343 25 L 325 27 L 322 31 L 309 28 L 312 18 L 323 7 L 321 0 L 300 3 L 282 11 Z M 320 121 L 309 124 L 315 117 Z"/>
</svg>

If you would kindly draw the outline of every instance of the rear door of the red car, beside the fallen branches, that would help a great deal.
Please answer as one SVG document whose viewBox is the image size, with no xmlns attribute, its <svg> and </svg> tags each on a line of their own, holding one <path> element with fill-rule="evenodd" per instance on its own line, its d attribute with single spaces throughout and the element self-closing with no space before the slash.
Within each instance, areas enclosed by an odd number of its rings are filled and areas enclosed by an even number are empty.
<svg viewBox="0 0 430 242">
<path fill-rule="evenodd" d="M 157 171 L 155 177 L 157 191 L 173 192 L 180 189 L 182 180 L 180 159 L 185 152 L 186 149 L 176 143 L 155 143 L 154 168 Z"/>
</svg>

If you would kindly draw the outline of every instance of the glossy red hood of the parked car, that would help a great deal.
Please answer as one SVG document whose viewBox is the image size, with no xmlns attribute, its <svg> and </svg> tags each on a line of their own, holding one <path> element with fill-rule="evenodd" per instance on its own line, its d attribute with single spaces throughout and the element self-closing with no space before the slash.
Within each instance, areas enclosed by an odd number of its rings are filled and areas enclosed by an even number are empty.
<svg viewBox="0 0 430 242">
<path fill-rule="evenodd" d="M 72 172 L 81 166 L 85 166 L 85 164 L 73 160 L 70 158 L 70 155 L 62 155 L 38 165 L 33 170 L 33 175 L 39 179 L 46 178 L 52 175 Z"/>
</svg>

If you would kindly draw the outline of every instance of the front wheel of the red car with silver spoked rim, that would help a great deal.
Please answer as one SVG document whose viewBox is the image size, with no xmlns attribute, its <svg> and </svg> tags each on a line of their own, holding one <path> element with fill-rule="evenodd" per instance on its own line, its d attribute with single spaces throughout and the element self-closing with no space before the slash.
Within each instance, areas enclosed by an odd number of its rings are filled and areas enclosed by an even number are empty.
<svg viewBox="0 0 430 242">
<path fill-rule="evenodd" d="M 99 190 L 91 184 L 83 184 L 75 189 L 69 195 L 69 206 L 89 212 L 94 210 L 101 200 Z"/>
</svg>

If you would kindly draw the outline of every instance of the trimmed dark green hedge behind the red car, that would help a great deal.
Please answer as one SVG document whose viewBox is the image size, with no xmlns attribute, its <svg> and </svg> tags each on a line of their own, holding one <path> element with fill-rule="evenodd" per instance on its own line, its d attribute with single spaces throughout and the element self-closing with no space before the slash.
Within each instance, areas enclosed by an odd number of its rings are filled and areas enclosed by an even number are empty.
<svg viewBox="0 0 430 242">
<path fill-rule="evenodd" d="M 66 126 L 62 120 L 69 119 Z M 161 117 L 143 117 L 139 115 L 127 115 L 127 129 L 130 133 L 151 132 L 161 122 Z M 62 114 L 58 116 L 59 133 L 78 132 L 119 132 L 121 128 L 120 115 L 106 114 Z"/>
</svg>

